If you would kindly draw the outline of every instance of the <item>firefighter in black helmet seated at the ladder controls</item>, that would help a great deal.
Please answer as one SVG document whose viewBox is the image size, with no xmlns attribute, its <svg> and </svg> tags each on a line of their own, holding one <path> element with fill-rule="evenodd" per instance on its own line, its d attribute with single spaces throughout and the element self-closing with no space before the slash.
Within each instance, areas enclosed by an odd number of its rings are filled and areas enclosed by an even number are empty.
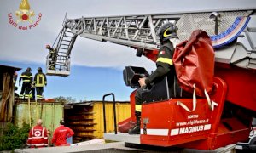
<svg viewBox="0 0 256 153">
<path fill-rule="evenodd" d="M 148 85 L 164 79 L 167 76 L 169 93 L 171 97 L 174 97 L 173 85 L 174 78 L 176 77 L 176 71 L 174 65 L 172 64 L 172 55 L 174 52 L 173 40 L 179 42 L 177 38 L 177 26 L 172 23 L 166 23 L 163 26 L 160 26 L 159 31 L 157 32 L 160 37 L 161 47 L 159 50 L 158 58 L 156 60 L 156 70 L 149 76 L 139 79 L 141 88 L 137 89 L 135 94 L 135 116 L 137 118 L 137 125 L 129 130 L 129 134 L 140 134 L 140 118 L 141 118 L 141 108 L 142 108 L 142 93 L 143 89 Z"/>
</svg>

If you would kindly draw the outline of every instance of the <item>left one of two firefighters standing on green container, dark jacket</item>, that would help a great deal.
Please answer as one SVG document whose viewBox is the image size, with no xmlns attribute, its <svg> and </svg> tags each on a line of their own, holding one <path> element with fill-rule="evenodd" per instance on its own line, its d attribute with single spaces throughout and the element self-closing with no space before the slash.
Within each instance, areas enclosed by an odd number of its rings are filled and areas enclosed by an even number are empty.
<svg viewBox="0 0 256 153">
<path fill-rule="evenodd" d="M 32 88 L 32 82 L 33 82 L 33 76 L 31 73 L 31 68 L 28 67 L 26 69 L 26 71 L 24 71 L 21 76 L 20 76 L 20 80 L 19 80 L 19 86 L 20 86 L 20 82 L 22 80 L 22 87 L 21 87 L 21 91 L 20 91 L 20 99 L 29 99 L 30 98 L 30 92 L 31 92 L 31 88 Z M 25 93 L 25 95 L 23 95 Z"/>
</svg>

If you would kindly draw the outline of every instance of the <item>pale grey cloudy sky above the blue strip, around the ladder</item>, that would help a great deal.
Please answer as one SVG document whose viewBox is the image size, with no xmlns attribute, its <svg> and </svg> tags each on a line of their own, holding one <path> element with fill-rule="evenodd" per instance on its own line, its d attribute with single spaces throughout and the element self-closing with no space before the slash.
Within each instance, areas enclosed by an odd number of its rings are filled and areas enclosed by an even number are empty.
<svg viewBox="0 0 256 153">
<path fill-rule="evenodd" d="M 12 14 L 13 20 L 17 20 L 15 11 L 19 10 L 20 2 L 21 0 L 0 2 L 0 61 L 37 65 L 44 65 L 49 53 L 45 45 L 55 41 L 66 12 L 67 18 L 73 19 L 82 16 L 256 8 L 255 0 L 29 0 L 31 10 L 36 14 L 32 20 L 38 20 L 40 13 L 42 17 L 36 27 L 22 31 L 9 24 L 8 17 Z M 153 62 L 138 58 L 135 54 L 132 48 L 78 37 L 71 54 L 71 62 L 72 65 L 108 67 L 120 72 L 126 65 L 145 66 L 148 70 L 154 70 Z"/>
</svg>

